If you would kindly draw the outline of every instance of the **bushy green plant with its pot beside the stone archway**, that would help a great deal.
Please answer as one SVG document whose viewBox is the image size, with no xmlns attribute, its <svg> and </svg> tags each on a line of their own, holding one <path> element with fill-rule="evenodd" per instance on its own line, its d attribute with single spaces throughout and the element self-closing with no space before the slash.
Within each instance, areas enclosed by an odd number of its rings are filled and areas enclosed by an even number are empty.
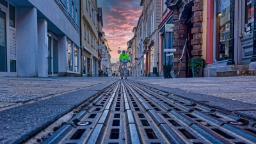
<svg viewBox="0 0 256 144">
<path fill-rule="evenodd" d="M 191 58 L 188 63 L 188 67 L 192 69 L 193 77 L 203 76 L 203 67 L 205 65 L 204 58 Z"/>
</svg>

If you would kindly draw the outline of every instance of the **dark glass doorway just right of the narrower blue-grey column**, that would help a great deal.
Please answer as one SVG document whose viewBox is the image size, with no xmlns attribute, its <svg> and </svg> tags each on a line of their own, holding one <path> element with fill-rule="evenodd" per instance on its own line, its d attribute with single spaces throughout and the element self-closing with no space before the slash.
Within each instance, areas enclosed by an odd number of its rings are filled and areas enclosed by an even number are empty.
<svg viewBox="0 0 256 144">
<path fill-rule="evenodd" d="M 58 41 L 48 33 L 48 76 L 58 76 Z"/>
</svg>

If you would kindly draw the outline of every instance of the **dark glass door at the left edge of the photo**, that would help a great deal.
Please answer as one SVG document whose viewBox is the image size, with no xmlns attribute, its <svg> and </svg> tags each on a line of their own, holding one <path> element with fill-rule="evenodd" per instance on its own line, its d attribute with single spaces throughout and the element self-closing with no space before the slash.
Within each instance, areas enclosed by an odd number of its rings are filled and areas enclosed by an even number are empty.
<svg viewBox="0 0 256 144">
<path fill-rule="evenodd" d="M 7 72 L 6 13 L 0 10 L 0 72 Z"/>
</svg>

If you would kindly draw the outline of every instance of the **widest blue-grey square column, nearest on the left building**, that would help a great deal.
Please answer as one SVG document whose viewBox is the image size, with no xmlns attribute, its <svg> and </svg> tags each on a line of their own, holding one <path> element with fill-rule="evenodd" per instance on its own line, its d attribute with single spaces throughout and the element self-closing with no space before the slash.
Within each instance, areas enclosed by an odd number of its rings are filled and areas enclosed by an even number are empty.
<svg viewBox="0 0 256 144">
<path fill-rule="evenodd" d="M 35 7 L 17 7 L 16 14 L 17 76 L 37 77 L 37 10 Z"/>
</svg>

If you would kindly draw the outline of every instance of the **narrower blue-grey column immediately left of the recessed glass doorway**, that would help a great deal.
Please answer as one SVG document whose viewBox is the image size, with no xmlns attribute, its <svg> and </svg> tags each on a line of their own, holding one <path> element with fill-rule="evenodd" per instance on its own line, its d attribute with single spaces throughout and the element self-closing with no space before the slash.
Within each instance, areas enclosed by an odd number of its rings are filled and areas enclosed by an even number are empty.
<svg viewBox="0 0 256 144">
<path fill-rule="evenodd" d="M 47 21 L 45 19 L 38 19 L 38 77 L 47 77 L 48 75 L 48 37 L 47 37 Z"/>
</svg>

